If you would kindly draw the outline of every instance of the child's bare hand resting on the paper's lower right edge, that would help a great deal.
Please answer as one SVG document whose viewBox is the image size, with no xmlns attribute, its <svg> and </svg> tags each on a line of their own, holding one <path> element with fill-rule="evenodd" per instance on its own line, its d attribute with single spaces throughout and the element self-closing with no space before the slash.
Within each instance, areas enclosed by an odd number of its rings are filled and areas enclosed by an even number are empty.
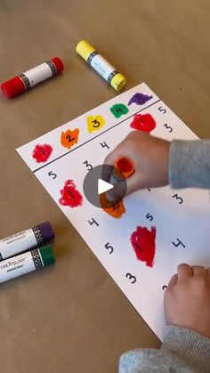
<svg viewBox="0 0 210 373">
<path fill-rule="evenodd" d="M 166 323 L 210 338 L 210 267 L 180 264 L 177 270 L 165 291 Z"/>
</svg>

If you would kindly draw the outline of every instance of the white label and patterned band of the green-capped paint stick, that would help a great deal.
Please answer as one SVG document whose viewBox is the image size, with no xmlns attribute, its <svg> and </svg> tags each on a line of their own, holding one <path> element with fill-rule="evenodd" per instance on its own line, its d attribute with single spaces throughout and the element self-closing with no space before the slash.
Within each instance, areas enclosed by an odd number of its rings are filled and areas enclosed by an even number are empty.
<svg viewBox="0 0 210 373">
<path fill-rule="evenodd" d="M 38 249 L 6 259 L 0 263 L 0 283 L 41 267 L 43 267 L 43 264 Z"/>
</svg>

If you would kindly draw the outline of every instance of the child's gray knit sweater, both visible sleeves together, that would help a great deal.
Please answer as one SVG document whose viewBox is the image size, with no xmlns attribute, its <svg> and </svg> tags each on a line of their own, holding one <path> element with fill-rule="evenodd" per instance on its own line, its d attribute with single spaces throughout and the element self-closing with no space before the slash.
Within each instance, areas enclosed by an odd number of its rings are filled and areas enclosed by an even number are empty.
<svg viewBox="0 0 210 373">
<path fill-rule="evenodd" d="M 210 140 L 171 143 L 169 182 L 174 189 L 210 189 Z M 210 338 L 189 328 L 167 326 L 160 350 L 136 349 L 120 357 L 119 373 L 138 372 L 210 373 Z"/>
</svg>

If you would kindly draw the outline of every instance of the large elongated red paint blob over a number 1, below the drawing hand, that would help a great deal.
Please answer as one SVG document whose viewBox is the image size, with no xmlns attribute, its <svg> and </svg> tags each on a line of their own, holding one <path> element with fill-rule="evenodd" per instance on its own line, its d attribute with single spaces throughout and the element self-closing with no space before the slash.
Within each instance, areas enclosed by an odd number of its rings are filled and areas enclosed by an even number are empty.
<svg viewBox="0 0 210 373">
<path fill-rule="evenodd" d="M 137 259 L 152 267 L 156 253 L 156 227 L 151 227 L 151 231 L 146 227 L 137 227 L 131 235 L 131 243 Z"/>
</svg>

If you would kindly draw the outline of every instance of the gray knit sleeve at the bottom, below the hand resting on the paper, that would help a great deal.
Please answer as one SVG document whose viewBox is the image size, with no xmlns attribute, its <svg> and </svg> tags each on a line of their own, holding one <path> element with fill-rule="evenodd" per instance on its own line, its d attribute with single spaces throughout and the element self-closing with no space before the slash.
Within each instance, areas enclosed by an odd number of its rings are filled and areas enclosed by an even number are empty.
<svg viewBox="0 0 210 373">
<path fill-rule="evenodd" d="M 189 328 L 167 326 L 160 350 L 136 349 L 124 353 L 118 373 L 209 373 L 210 338 Z"/>
</svg>

